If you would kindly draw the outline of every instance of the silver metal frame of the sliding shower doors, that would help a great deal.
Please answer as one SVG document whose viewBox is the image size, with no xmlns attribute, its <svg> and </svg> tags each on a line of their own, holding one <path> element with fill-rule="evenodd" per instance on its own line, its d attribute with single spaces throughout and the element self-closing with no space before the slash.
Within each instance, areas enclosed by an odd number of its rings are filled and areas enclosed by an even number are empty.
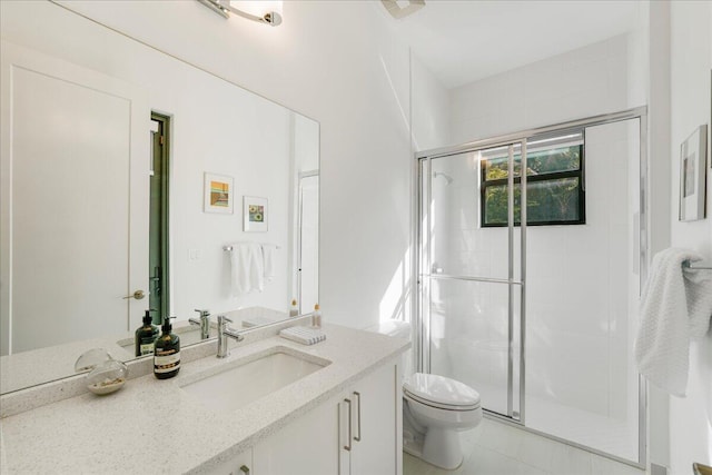
<svg viewBox="0 0 712 475">
<path fill-rule="evenodd" d="M 616 462 L 621 462 L 627 465 L 632 465 L 636 468 L 644 469 L 647 464 L 647 383 L 643 376 L 639 375 L 639 451 L 637 461 L 630 461 L 619 457 L 613 454 L 597 451 L 595 448 L 577 444 L 573 441 L 563 439 L 551 434 L 542 433 L 540 431 L 530 428 L 526 426 L 525 418 L 525 389 L 526 389 L 526 206 L 521 207 L 521 278 L 520 281 L 513 279 L 513 232 L 514 232 L 514 174 L 513 171 L 513 152 L 512 147 L 516 144 L 521 146 L 521 159 L 522 170 L 526 170 L 526 142 L 530 138 L 553 132 L 564 132 L 566 130 L 585 129 L 589 127 L 602 126 L 606 123 L 614 123 L 625 120 L 637 119 L 639 139 L 640 139 L 640 209 L 637 215 L 640 219 L 636 224 L 637 239 L 635 246 L 637 247 L 637 273 L 640 278 L 640 290 L 642 291 L 643 285 L 647 278 L 649 267 L 649 249 L 647 243 L 650 243 L 650 230 L 647 226 L 647 107 L 641 106 L 633 109 L 627 109 L 619 112 L 604 113 L 583 119 L 572 120 L 567 122 L 560 122 L 551 126 L 544 126 L 524 130 L 521 132 L 508 133 L 497 137 L 492 137 L 482 140 L 474 140 L 462 145 L 436 148 L 424 151 L 416 151 L 414 154 L 414 187 L 413 187 L 413 202 L 414 202 L 414 222 L 413 226 L 413 243 L 415 245 L 415 253 L 413 253 L 413 266 L 415 270 L 415 293 L 416 298 L 413 299 L 413 315 L 415 318 L 415 345 L 414 345 L 414 358 L 415 365 L 418 372 L 429 373 L 431 370 L 431 355 L 429 355 L 429 342 L 431 342 L 431 318 L 429 318 L 429 301 L 431 301 L 431 279 L 457 279 L 457 280 L 475 280 L 475 281 L 488 281 L 508 284 L 508 375 L 507 375 L 507 412 L 508 415 L 501 415 L 498 413 L 490 412 L 485 409 L 485 415 L 490 418 L 495 418 L 507 424 L 516 425 L 525 431 L 552 438 L 554 441 L 585 449 L 596 455 L 601 455 Z M 427 209 L 423 209 L 423 188 L 426 188 L 426 195 L 432 198 L 433 194 L 433 172 L 432 160 L 436 158 L 451 157 L 467 152 L 475 152 L 485 148 L 492 148 L 497 146 L 508 146 L 508 278 L 496 279 L 485 277 L 465 277 L 465 276 L 433 276 L 432 274 L 432 256 L 431 256 L 431 243 L 429 235 L 427 240 L 427 250 L 424 250 L 423 228 L 429 232 L 432 217 L 429 210 L 429 201 Z M 425 165 L 423 165 L 425 162 Z M 426 169 L 425 177 L 422 174 L 423 169 Z M 521 202 L 526 202 L 526 174 L 521 174 Z M 425 224 L 424 224 L 425 222 Z M 634 224 L 635 226 L 635 224 Z M 635 270 L 635 269 L 634 269 Z M 513 418 L 513 286 L 520 285 L 521 287 L 521 314 L 520 314 L 520 418 Z M 425 301 L 428 305 L 424 305 Z"/>
</svg>

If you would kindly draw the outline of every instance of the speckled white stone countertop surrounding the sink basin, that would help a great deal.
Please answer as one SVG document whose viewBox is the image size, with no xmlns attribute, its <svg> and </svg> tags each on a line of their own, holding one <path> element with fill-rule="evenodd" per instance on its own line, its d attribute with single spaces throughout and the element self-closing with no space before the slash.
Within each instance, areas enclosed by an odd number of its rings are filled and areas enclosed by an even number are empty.
<svg viewBox="0 0 712 475">
<path fill-rule="evenodd" d="M 405 339 L 335 325 L 324 331 L 326 340 L 313 346 L 278 336 L 237 344 L 228 358 L 187 363 L 171 379 L 142 376 L 107 396 L 86 393 L 0 419 L 2 474 L 207 473 L 409 347 Z M 274 346 L 332 363 L 228 413 L 180 389 Z"/>
</svg>

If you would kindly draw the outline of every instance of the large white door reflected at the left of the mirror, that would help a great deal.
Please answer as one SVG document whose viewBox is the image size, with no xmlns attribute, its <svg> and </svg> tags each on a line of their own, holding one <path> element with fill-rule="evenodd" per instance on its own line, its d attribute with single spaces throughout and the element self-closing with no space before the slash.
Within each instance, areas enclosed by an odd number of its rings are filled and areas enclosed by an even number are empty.
<svg viewBox="0 0 712 475">
<path fill-rule="evenodd" d="M 146 103 L 117 79 L 2 43 L 3 355 L 138 326 Z"/>
</svg>

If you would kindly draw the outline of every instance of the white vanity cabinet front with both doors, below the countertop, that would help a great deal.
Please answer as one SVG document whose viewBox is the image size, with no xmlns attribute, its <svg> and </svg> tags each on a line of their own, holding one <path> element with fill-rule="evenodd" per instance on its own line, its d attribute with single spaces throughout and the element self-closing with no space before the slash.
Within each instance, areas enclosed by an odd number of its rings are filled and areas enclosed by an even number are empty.
<svg viewBox="0 0 712 475">
<path fill-rule="evenodd" d="M 382 366 L 261 441 L 249 475 L 399 475 L 398 372 Z"/>
</svg>

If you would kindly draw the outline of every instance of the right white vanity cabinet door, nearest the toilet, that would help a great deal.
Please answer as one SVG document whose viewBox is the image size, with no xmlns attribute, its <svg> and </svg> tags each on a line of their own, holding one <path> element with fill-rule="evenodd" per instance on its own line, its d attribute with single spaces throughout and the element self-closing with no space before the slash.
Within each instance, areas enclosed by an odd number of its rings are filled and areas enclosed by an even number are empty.
<svg viewBox="0 0 712 475">
<path fill-rule="evenodd" d="M 356 383 L 353 402 L 350 475 L 395 475 L 402 464 L 398 368 L 386 365 Z"/>
</svg>

